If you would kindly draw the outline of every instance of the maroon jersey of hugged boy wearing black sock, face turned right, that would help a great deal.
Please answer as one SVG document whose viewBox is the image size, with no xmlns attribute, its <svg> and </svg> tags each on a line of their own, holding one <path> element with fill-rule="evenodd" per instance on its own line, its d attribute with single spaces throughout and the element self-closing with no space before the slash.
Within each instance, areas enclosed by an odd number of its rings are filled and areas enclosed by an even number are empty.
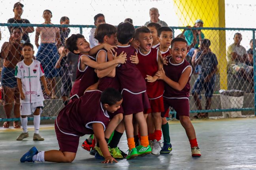
<svg viewBox="0 0 256 170">
<path fill-rule="evenodd" d="M 108 61 L 108 59 L 107 59 L 107 51 L 106 50 L 100 50 L 100 51 L 104 51 L 106 53 L 105 62 L 107 62 Z M 97 61 L 97 57 L 98 57 L 98 54 L 99 54 L 100 51 L 98 51 L 98 53 L 96 55 L 96 61 Z M 117 79 L 117 76 L 115 76 L 114 78 L 105 76 L 104 78 L 100 78 L 99 79 L 98 89 L 100 91 L 104 91 L 108 87 L 112 87 L 112 88 L 114 88 L 114 89 L 116 89 L 118 91 L 120 90 L 120 84 L 119 84 L 119 81 Z"/>
</svg>

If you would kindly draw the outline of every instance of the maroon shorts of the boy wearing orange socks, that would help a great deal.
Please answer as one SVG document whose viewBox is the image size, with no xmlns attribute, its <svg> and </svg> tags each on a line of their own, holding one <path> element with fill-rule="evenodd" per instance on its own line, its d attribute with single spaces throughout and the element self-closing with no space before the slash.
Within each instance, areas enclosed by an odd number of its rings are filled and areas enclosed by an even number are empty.
<svg viewBox="0 0 256 170">
<path fill-rule="evenodd" d="M 122 92 L 123 102 L 122 107 L 124 115 L 132 115 L 135 113 L 143 112 L 150 108 L 149 98 L 146 92 L 139 94 L 132 94 L 128 91 Z"/>
</svg>

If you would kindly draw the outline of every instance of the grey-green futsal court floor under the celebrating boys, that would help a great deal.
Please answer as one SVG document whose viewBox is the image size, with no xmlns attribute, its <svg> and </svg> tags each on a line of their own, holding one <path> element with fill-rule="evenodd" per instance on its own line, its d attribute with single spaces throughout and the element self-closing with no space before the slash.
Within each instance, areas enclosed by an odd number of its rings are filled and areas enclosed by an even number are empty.
<svg viewBox="0 0 256 170">
<path fill-rule="evenodd" d="M 29 126 L 29 137 L 17 141 L 21 129 L 0 129 L 0 170 L 256 170 L 256 118 L 233 118 L 192 121 L 202 156 L 191 157 L 186 133 L 178 121 L 170 121 L 173 150 L 168 155 L 146 155 L 119 163 L 102 164 L 81 148 L 88 137 L 80 138 L 75 160 L 72 163 L 20 163 L 20 157 L 32 146 L 38 150 L 58 150 L 53 126 L 42 125 L 44 141 L 33 141 L 34 127 Z M 121 150 L 128 150 L 125 134 L 120 140 Z"/>
</svg>

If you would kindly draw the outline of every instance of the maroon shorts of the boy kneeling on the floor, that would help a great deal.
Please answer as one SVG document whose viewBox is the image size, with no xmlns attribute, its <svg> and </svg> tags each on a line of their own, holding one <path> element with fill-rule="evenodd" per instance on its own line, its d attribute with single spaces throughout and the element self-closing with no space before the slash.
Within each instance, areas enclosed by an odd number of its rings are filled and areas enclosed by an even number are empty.
<svg viewBox="0 0 256 170">
<path fill-rule="evenodd" d="M 77 148 L 79 145 L 79 136 L 67 135 L 62 133 L 58 126 L 56 125 L 55 120 L 55 132 L 58 140 L 58 144 L 60 146 L 60 151 L 62 152 L 77 152 Z"/>
</svg>

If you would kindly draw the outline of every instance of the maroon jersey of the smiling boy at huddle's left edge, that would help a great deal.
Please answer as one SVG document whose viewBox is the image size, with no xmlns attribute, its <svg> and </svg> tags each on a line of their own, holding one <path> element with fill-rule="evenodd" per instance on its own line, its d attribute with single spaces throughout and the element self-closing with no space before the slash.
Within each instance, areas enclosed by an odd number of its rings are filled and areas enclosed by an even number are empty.
<svg viewBox="0 0 256 170">
<path fill-rule="evenodd" d="M 89 86 L 93 85 L 98 81 L 98 77 L 97 77 L 97 74 L 94 72 L 94 68 L 86 66 L 85 70 L 80 70 L 81 56 L 82 55 L 79 55 L 79 61 L 78 61 L 77 72 L 76 72 L 76 80 L 71 89 L 70 98 L 72 98 L 72 96 L 77 96 L 77 97 L 83 96 L 85 90 Z M 86 55 L 86 56 L 95 61 L 94 57 L 90 55 Z"/>
</svg>

